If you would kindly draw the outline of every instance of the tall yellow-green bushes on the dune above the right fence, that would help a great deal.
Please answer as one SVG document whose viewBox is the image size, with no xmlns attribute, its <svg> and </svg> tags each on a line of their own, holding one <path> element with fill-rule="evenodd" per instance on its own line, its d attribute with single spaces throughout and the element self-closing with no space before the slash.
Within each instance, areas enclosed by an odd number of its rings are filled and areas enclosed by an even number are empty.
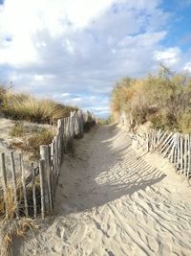
<svg viewBox="0 0 191 256">
<path fill-rule="evenodd" d="M 191 132 L 191 78 L 161 65 L 156 76 L 124 78 L 112 92 L 112 113 L 122 112 L 136 125 L 150 121 L 154 128 Z"/>
</svg>

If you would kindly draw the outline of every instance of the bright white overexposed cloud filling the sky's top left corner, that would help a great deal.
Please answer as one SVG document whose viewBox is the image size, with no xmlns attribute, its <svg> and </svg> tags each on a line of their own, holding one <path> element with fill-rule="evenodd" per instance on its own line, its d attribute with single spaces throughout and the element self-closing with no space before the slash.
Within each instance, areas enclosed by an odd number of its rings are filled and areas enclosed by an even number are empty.
<svg viewBox="0 0 191 256">
<path fill-rule="evenodd" d="M 47 31 L 60 37 L 76 29 L 83 29 L 104 12 L 114 0 L 6 0 L 0 9 L 0 63 L 27 65 L 40 61 L 36 34 Z M 6 43 L 10 37 L 11 41 Z M 66 39 L 66 47 L 73 53 L 73 46 Z"/>
</svg>

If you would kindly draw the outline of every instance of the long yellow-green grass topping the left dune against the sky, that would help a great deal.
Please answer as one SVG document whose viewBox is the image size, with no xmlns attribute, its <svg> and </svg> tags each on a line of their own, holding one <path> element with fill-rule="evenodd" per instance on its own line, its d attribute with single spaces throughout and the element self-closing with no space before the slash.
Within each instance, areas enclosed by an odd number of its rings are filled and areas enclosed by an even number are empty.
<svg viewBox="0 0 191 256">
<path fill-rule="evenodd" d="M 77 109 L 69 105 L 58 104 L 53 100 L 15 93 L 4 86 L 0 87 L 0 102 L 1 112 L 6 117 L 35 123 L 52 124 L 53 121 L 69 116 L 71 111 Z"/>
</svg>

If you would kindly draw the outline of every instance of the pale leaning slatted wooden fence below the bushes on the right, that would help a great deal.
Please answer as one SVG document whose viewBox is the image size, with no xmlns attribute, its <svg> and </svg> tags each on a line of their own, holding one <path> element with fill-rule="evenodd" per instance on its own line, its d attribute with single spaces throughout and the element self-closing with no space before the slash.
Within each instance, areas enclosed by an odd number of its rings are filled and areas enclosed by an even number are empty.
<svg viewBox="0 0 191 256">
<path fill-rule="evenodd" d="M 152 129 L 143 136 L 136 135 L 138 148 L 144 151 L 159 151 L 168 158 L 180 175 L 191 177 L 191 134 Z"/>
</svg>

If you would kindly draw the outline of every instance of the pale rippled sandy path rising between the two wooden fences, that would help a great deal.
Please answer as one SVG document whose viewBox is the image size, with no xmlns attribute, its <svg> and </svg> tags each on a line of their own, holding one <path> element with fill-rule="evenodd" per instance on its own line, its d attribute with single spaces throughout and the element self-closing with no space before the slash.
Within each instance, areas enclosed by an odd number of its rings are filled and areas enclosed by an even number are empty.
<svg viewBox="0 0 191 256">
<path fill-rule="evenodd" d="M 29 232 L 13 255 L 191 255 L 187 183 L 138 159 L 115 126 L 95 128 L 74 148 L 52 225 Z"/>
</svg>

